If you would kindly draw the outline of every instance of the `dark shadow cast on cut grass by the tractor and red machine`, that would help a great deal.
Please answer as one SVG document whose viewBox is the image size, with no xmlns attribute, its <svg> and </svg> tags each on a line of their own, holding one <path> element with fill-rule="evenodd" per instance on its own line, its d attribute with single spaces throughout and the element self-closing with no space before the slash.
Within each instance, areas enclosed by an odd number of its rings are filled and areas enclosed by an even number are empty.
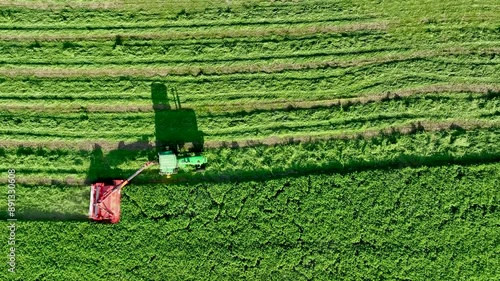
<svg viewBox="0 0 500 281">
<path fill-rule="evenodd" d="M 133 143 L 121 141 L 116 149 L 110 151 L 104 151 L 99 144 L 94 144 L 85 184 L 111 184 L 113 179 L 125 179 L 140 166 L 124 170 L 119 168 L 121 164 L 137 159 L 157 161 L 158 152 L 172 150 L 176 154 L 200 154 L 203 151 L 203 132 L 198 129 L 196 113 L 193 109 L 181 107 L 175 88 L 167 90 L 165 84 L 153 82 L 151 100 L 155 124 L 154 145 L 148 135 L 139 136 L 140 139 Z"/>
</svg>

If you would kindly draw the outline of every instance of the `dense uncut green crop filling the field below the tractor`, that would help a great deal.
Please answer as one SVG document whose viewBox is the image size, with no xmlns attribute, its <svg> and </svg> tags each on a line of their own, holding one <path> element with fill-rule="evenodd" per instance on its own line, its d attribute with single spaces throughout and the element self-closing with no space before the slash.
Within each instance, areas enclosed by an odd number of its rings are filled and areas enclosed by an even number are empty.
<svg viewBox="0 0 500 281">
<path fill-rule="evenodd" d="M 491 279 L 498 173 L 497 164 L 454 165 L 131 185 L 118 225 L 75 220 L 68 208 L 46 221 L 57 207 L 19 220 L 16 278 Z M 19 196 L 66 193 L 39 189 L 19 186 Z"/>
</svg>

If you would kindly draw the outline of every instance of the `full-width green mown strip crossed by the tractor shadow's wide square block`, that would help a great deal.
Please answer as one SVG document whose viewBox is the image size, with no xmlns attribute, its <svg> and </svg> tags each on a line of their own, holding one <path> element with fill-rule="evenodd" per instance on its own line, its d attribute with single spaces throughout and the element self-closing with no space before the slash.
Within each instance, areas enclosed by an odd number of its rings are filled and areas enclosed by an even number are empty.
<svg viewBox="0 0 500 281">
<path fill-rule="evenodd" d="M 356 130 L 362 127 L 383 127 L 401 124 L 411 120 L 443 120 L 445 118 L 495 119 L 498 99 L 490 96 L 453 94 L 433 95 L 430 99 L 398 99 L 395 102 L 371 103 L 368 105 L 346 104 L 346 107 L 327 107 L 313 110 L 285 109 L 283 111 L 237 112 L 235 114 L 198 114 L 197 126 L 203 131 L 205 140 L 227 140 L 243 136 L 266 137 L 270 135 L 316 134 L 318 131 L 333 133 L 343 130 Z M 432 101 L 431 104 L 429 102 Z M 433 110 L 433 106 L 439 111 Z M 480 109 L 475 112 L 476 107 Z M 345 112 L 343 112 L 345 110 Z M 342 113 L 343 112 L 343 113 Z M 473 113 L 473 114 L 471 114 Z M 312 114 L 312 115 L 311 115 Z M 82 119 L 82 116 L 85 117 Z M 283 117 L 287 118 L 283 121 Z M 139 118 L 139 119 L 137 119 Z M 126 114 L 84 114 L 82 113 L 32 113 L 0 112 L 4 124 L 0 131 L 4 139 L 22 139 L 29 135 L 34 140 L 46 139 L 135 139 L 138 133 L 143 135 L 154 130 L 154 113 Z M 24 120 L 21 122 L 21 120 Z M 236 122 L 234 122 L 236 120 Z M 302 121 L 300 121 L 302 120 Z M 242 121 L 245 121 L 242 123 Z M 111 123 L 110 123 L 111 122 Z M 215 125 L 214 125 L 215 124 Z M 219 124 L 219 125 L 216 125 Z M 45 129 L 43 129 L 45 128 Z M 99 136 L 92 133 L 99 128 L 108 128 L 109 132 Z M 123 131 L 123 128 L 126 130 Z M 80 131 L 82 130 L 82 131 Z M 135 133 L 134 133 L 135 132 Z M 7 133 L 10 135 L 7 135 Z M 149 134 L 148 134 L 149 135 Z M 149 135 L 149 137 L 153 137 Z"/>
</svg>

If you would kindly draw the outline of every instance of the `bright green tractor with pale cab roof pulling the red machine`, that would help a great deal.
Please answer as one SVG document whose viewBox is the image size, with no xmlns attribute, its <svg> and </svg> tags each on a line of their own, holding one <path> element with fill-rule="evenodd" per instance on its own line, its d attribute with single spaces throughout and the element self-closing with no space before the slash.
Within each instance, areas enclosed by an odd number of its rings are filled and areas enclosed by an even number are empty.
<svg viewBox="0 0 500 281">
<path fill-rule="evenodd" d="M 183 156 L 178 157 L 171 150 L 158 153 L 158 163 L 160 164 L 160 175 L 166 175 L 170 178 L 171 175 L 177 174 L 179 168 L 195 167 L 201 170 L 207 163 L 205 156 Z"/>
</svg>

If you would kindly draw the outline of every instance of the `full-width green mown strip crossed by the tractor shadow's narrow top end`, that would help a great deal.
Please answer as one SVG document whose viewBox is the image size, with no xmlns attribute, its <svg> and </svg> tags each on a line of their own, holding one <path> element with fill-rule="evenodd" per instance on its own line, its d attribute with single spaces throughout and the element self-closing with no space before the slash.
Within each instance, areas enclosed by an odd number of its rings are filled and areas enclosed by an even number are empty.
<svg viewBox="0 0 500 281">
<path fill-rule="evenodd" d="M 420 62 L 425 65 L 427 59 L 419 61 L 416 65 L 420 66 Z M 412 63 L 412 62 L 410 62 Z M 402 63 L 403 66 L 408 63 Z M 430 69 L 431 66 L 426 66 L 426 69 Z M 373 91 L 382 91 L 384 88 L 396 89 L 398 87 L 407 87 L 417 84 L 428 84 L 435 82 L 447 82 L 447 83 L 494 83 L 494 78 L 482 78 L 478 74 L 490 74 L 494 70 L 481 69 L 477 67 L 471 67 L 470 71 L 462 73 L 461 76 L 457 76 L 455 73 L 459 71 L 451 67 L 450 72 L 445 72 L 444 74 L 428 74 L 426 71 L 418 72 L 418 68 L 411 70 L 408 67 L 400 69 L 400 64 L 391 66 L 391 71 L 383 71 L 384 66 L 381 66 L 380 73 L 377 71 L 374 74 L 374 78 L 359 79 L 358 77 L 363 77 L 363 73 L 358 74 L 356 69 L 331 69 L 328 70 L 331 73 L 329 78 L 325 78 L 324 81 L 319 81 L 319 84 L 323 86 L 318 86 L 318 79 L 316 80 L 293 80 L 286 76 L 287 72 L 283 74 L 267 75 L 275 77 L 274 81 L 267 81 L 270 77 L 266 77 L 265 74 L 248 74 L 248 83 L 236 81 L 232 83 L 231 79 L 229 81 L 218 81 L 214 84 L 203 83 L 205 77 L 192 78 L 198 83 L 190 82 L 188 85 L 177 84 L 173 82 L 174 86 L 180 87 L 181 92 L 189 93 L 182 95 L 182 103 L 193 108 L 203 108 L 209 106 L 216 107 L 229 107 L 236 103 L 249 104 L 255 103 L 259 100 L 262 103 L 269 103 L 282 100 L 284 103 L 297 102 L 299 95 L 302 97 L 307 97 L 307 99 L 301 98 L 301 101 L 312 101 L 312 100 L 324 100 L 332 98 L 349 98 L 353 97 L 352 93 L 367 92 L 369 88 L 373 88 Z M 448 68 L 448 67 L 447 67 Z M 369 68 L 373 69 L 373 68 Z M 475 69 L 475 70 L 474 70 Z M 455 70 L 455 71 L 454 71 Z M 319 70 L 311 70 L 314 73 L 319 72 Z M 474 72 L 477 71 L 477 74 Z M 341 78 L 342 73 L 348 73 L 346 78 Z M 299 73 L 294 73 L 293 76 Z M 335 74 L 335 75 L 332 75 Z M 468 74 L 468 75 L 467 75 Z M 451 76 L 450 76 L 451 75 Z M 471 76 L 474 75 L 474 76 Z M 491 74 L 490 74 L 491 75 Z M 254 77 L 255 76 L 255 77 Z M 331 77 L 330 77 L 331 76 Z M 223 76 L 222 76 L 223 77 Z M 339 78 L 335 78 L 339 77 Z M 261 79 L 265 81 L 260 81 Z M 17 78 L 22 79 L 22 78 Z M 122 82 L 108 81 L 106 82 L 106 87 L 100 85 L 99 79 L 91 80 L 87 84 L 82 84 L 77 81 L 66 81 L 61 82 L 64 84 L 58 84 L 61 79 L 33 79 L 34 83 L 38 81 L 43 81 L 44 84 L 40 85 L 37 83 L 33 85 L 30 82 L 22 82 L 23 85 L 18 85 L 17 79 L 5 79 L 8 82 L 2 84 L 2 90 L 0 92 L 0 100 L 3 100 L 5 104 L 9 105 L 22 105 L 22 104 L 35 104 L 33 100 L 44 99 L 44 105 L 51 106 L 54 104 L 64 103 L 67 106 L 72 106 L 71 103 L 80 104 L 82 108 L 88 105 L 97 104 L 99 100 L 109 99 L 110 102 L 114 102 L 115 105 L 123 104 L 140 104 L 142 106 L 147 106 L 150 104 L 150 86 L 147 82 L 141 81 L 139 84 L 132 84 L 132 86 L 126 87 Z M 120 78 L 115 78 L 120 79 Z M 125 81 L 132 81 L 133 77 L 127 78 Z M 252 80 L 253 79 L 253 80 Z M 355 79 L 354 81 L 352 79 Z M 28 79 L 31 81 L 32 79 Z M 198 81 L 201 80 L 201 81 Z M 417 81 L 421 80 L 421 81 Z M 490 80 L 490 81 L 488 81 Z M 12 81 L 12 83 L 11 83 Z M 57 87 L 54 90 L 46 84 Z M 153 81 L 153 80 L 151 80 Z M 406 82 L 411 81 L 409 85 L 405 85 Z M 300 83 L 302 82 L 302 83 Z M 334 88 L 325 87 L 327 82 L 335 83 Z M 387 82 L 387 83 L 385 83 Z M 89 85 L 94 85 L 95 87 Z M 132 82 L 130 82 L 132 83 Z M 243 85 L 244 83 L 244 85 Z M 265 84 L 263 84 L 265 83 Z M 394 84 L 397 83 L 397 84 Z M 168 82 L 167 82 L 168 84 Z M 112 88 L 112 85 L 116 85 L 116 88 Z M 146 87 L 147 85 L 147 87 Z M 201 85 L 202 88 L 197 87 Z M 240 85 L 240 86 L 237 86 Z M 17 87 L 16 87 L 17 86 Z M 136 89 L 139 87 L 139 89 Z M 242 87 L 245 87 L 242 89 Z M 302 87 L 302 89 L 301 89 Z M 254 89 L 258 89 L 257 91 Z M 280 90 L 282 89 L 282 90 Z M 300 90 L 295 90 L 300 89 Z M 121 91 L 120 91 L 121 90 Z M 118 92 L 120 91 L 120 92 Z M 13 95 L 12 93 L 15 93 Z M 359 95 L 359 94 L 358 94 Z M 125 102 L 125 100 L 127 100 Z M 218 100 L 214 104 L 214 100 Z"/>
</svg>

